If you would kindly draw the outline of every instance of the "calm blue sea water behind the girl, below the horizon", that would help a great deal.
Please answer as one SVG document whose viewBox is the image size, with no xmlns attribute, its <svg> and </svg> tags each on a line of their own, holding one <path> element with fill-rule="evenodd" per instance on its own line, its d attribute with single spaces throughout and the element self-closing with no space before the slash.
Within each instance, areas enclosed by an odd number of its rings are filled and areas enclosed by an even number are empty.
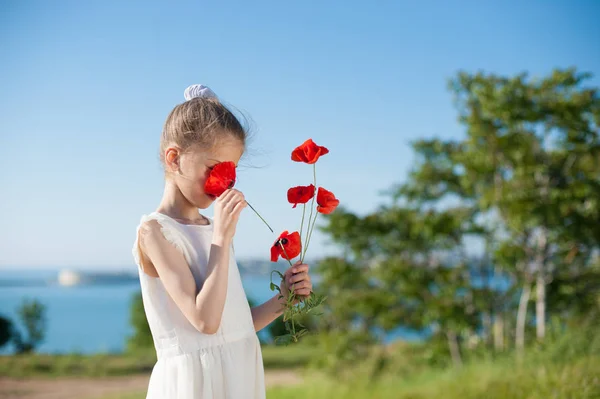
<svg viewBox="0 0 600 399">
<path fill-rule="evenodd" d="M 119 353 L 132 334 L 130 305 L 140 291 L 137 272 L 99 273 L 93 282 L 59 284 L 61 269 L 0 269 L 0 315 L 10 318 L 21 331 L 17 309 L 24 300 L 35 299 L 46 307 L 46 335 L 36 349 L 39 353 Z M 112 277 L 111 277 L 112 276 Z M 269 276 L 243 274 L 246 295 L 256 303 L 273 296 Z M 326 294 L 326 293 L 325 293 Z M 264 334 L 264 332 L 263 332 Z M 398 328 L 386 341 L 418 339 L 419 334 Z M 14 353 L 12 344 L 0 354 Z"/>
</svg>

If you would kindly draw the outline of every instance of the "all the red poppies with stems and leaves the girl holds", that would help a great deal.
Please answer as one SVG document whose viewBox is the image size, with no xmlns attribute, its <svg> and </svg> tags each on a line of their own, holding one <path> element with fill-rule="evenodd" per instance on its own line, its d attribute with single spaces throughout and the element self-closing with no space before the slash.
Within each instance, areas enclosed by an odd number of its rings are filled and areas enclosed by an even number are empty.
<svg viewBox="0 0 600 399">
<path fill-rule="evenodd" d="M 327 148 L 318 146 L 312 141 L 312 139 L 306 140 L 302 145 L 296 147 L 292 151 L 292 161 L 313 165 L 313 183 L 308 186 L 292 187 L 288 190 L 287 199 L 290 204 L 293 204 L 292 208 L 296 208 L 298 204 L 302 204 L 302 222 L 300 224 L 300 232 L 294 231 L 289 233 L 287 230 L 285 230 L 279 235 L 279 237 L 277 237 L 275 243 L 271 246 L 272 262 L 277 262 L 279 257 L 281 257 L 286 259 L 290 266 L 292 266 L 292 259 L 296 258 L 297 256 L 300 256 L 300 261 L 304 262 L 312 232 L 317 221 L 317 216 L 319 213 L 329 214 L 333 212 L 339 205 L 339 200 L 335 198 L 335 195 L 333 195 L 332 192 L 323 187 L 318 187 L 317 189 L 316 163 L 321 156 L 327 153 L 329 153 Z M 232 188 L 234 184 L 235 164 L 233 162 L 222 162 L 217 164 L 211 171 L 206 181 L 205 192 L 219 196 L 228 188 Z M 317 202 L 316 208 L 315 199 Z M 309 209 L 310 214 L 306 223 L 306 232 L 304 233 L 304 222 L 307 213 L 306 204 L 309 201 L 311 201 Z M 266 220 L 263 219 L 256 209 L 254 209 L 250 204 L 248 204 L 248 206 L 250 206 L 250 208 L 258 215 L 258 217 L 267 225 L 269 230 L 273 232 L 271 226 L 269 226 Z M 302 239 L 303 233 L 304 240 Z M 298 322 L 298 319 L 321 305 L 325 300 L 325 297 L 312 292 L 308 298 L 299 301 L 298 298 L 296 298 L 293 289 L 289 290 L 287 297 L 284 297 L 279 286 L 273 282 L 274 274 L 279 275 L 282 281 L 284 280 L 284 276 L 278 270 L 273 270 L 271 272 L 270 288 L 272 291 L 278 291 L 279 299 L 283 299 L 285 301 L 283 321 L 287 332 L 287 334 L 280 337 L 275 337 L 275 339 L 277 342 L 283 342 L 286 344 L 290 342 L 297 342 L 300 337 L 308 333 L 306 328 Z"/>
</svg>

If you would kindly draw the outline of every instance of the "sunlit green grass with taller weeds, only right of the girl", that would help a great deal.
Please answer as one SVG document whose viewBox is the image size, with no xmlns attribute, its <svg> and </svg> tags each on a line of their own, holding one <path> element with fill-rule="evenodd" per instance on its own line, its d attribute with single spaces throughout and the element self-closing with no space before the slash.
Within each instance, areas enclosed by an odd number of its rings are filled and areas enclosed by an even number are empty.
<svg viewBox="0 0 600 399">
<path fill-rule="evenodd" d="M 532 344 L 517 362 L 507 353 L 492 360 L 472 360 L 462 368 L 391 368 L 376 382 L 368 381 L 369 362 L 362 362 L 352 378 L 336 380 L 307 375 L 300 387 L 277 387 L 270 398 L 327 399 L 553 399 L 600 398 L 600 329 L 581 326 L 571 333 L 548 337 L 544 345 Z M 414 362 L 410 352 L 398 346 L 396 363 Z M 397 370 L 393 372 L 392 370 Z M 401 371 L 400 371 L 401 370 Z"/>
</svg>

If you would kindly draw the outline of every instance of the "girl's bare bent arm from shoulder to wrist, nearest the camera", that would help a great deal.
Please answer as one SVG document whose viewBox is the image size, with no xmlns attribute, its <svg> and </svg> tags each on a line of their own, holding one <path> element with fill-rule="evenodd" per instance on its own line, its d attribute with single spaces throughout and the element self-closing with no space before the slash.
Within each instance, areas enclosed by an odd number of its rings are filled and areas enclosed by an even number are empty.
<svg viewBox="0 0 600 399">
<path fill-rule="evenodd" d="M 162 284 L 189 322 L 201 333 L 214 334 L 219 329 L 229 273 L 231 240 L 213 240 L 207 265 L 207 277 L 198 292 L 190 268 L 181 253 L 167 241 L 156 220 L 142 225 L 140 246 L 152 262 Z"/>
</svg>

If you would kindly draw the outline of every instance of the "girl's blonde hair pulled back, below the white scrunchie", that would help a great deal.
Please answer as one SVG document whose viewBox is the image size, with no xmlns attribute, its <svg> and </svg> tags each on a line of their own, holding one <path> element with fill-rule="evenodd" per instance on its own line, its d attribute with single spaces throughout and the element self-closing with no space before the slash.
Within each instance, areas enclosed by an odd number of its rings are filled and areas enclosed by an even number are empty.
<svg viewBox="0 0 600 399">
<path fill-rule="evenodd" d="M 238 118 L 216 97 L 195 97 L 177 105 L 165 121 L 160 139 L 160 160 L 176 145 L 182 151 L 210 149 L 220 139 L 235 138 L 246 146 L 248 134 Z"/>
</svg>

